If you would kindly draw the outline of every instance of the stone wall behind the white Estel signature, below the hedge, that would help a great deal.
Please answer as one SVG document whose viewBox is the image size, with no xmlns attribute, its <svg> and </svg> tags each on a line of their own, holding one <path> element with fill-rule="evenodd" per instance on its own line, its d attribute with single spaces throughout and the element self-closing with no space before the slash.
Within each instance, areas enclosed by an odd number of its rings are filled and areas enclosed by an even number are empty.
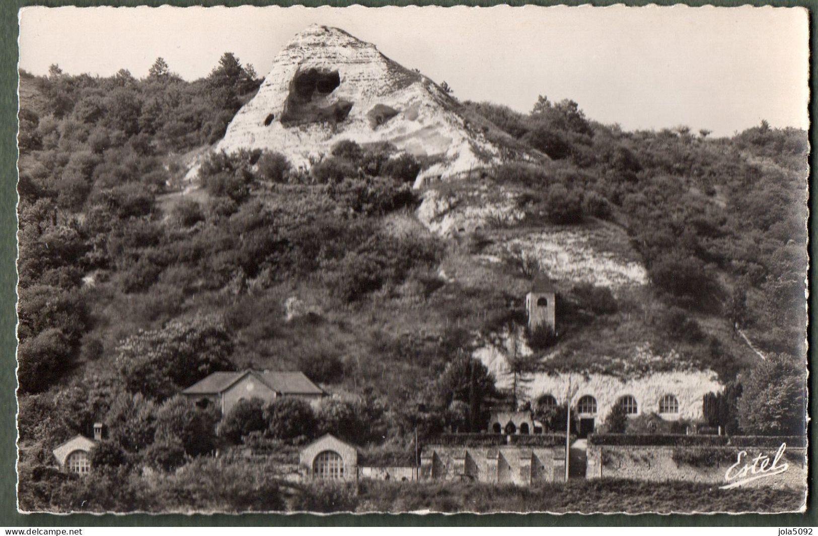
<svg viewBox="0 0 818 536">
<path fill-rule="evenodd" d="M 777 449 L 589 444 L 586 478 L 688 480 L 721 486 L 730 483 L 726 480 L 726 471 L 735 465 L 741 451 L 745 451 L 746 454 L 742 457 L 739 466 L 732 470 L 733 475 L 740 471 L 745 463 L 752 466 L 753 458 L 759 454 L 770 457 L 770 463 L 772 463 Z M 787 470 L 780 475 L 753 480 L 743 486 L 807 489 L 807 449 L 787 448 L 784 456 L 778 462 L 779 466 L 784 464 L 787 464 Z M 748 476 L 752 476 L 752 473 Z"/>
</svg>

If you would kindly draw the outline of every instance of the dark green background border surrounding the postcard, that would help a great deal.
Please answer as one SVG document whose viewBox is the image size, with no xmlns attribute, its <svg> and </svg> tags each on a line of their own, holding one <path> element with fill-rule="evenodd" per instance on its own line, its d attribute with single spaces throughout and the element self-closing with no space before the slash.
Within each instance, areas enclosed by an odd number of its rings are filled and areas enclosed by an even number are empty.
<svg viewBox="0 0 818 536">
<path fill-rule="evenodd" d="M 406 5 L 438 5 L 451 7 L 456 5 L 482 6 L 488 7 L 496 4 L 506 3 L 511 6 L 523 6 L 525 4 L 536 4 L 541 6 L 551 5 L 581 5 L 592 4 L 595 6 L 609 6 L 618 2 L 600 2 L 591 0 L 589 2 L 518 2 L 509 0 L 507 2 L 371 2 L 358 0 L 357 2 L 317 2 L 305 0 L 304 2 L 191 2 L 180 0 L 154 0 L 152 2 L 124 1 L 124 2 L 93 2 L 80 1 L 69 2 L 59 0 L 21 1 L 21 0 L 0 0 L 0 526 L 29 527 L 29 526 L 308 526 L 308 525 L 340 525 L 340 526 L 366 526 L 366 525 L 386 525 L 386 526 L 426 526 L 426 525 L 454 525 L 454 526 L 479 526 L 479 525 L 516 525 L 516 526 L 605 526 L 605 525 L 640 525 L 640 526 L 679 526 L 679 525 L 769 525 L 769 526 L 802 526 L 818 525 L 818 515 L 816 515 L 816 497 L 812 493 L 814 486 L 814 471 L 811 466 L 809 476 L 809 487 L 811 490 L 807 502 L 806 514 L 782 514 L 782 515 L 622 515 L 622 514 L 598 514 L 585 516 L 580 514 L 564 514 L 551 516 L 547 514 L 456 514 L 456 515 L 352 515 L 338 514 L 331 516 L 311 516 L 307 514 L 275 515 L 275 514 L 243 514 L 231 515 L 147 515 L 134 514 L 128 516 L 115 515 L 92 515 L 74 514 L 68 516 L 57 516 L 51 514 L 20 514 L 16 510 L 16 113 L 17 113 L 17 11 L 25 6 L 151 6 L 172 5 L 178 7 L 191 6 L 292 6 L 304 5 L 317 7 L 329 5 L 333 7 L 344 7 L 353 4 L 360 4 L 367 7 L 381 6 L 406 6 Z M 622 3 L 622 2 L 619 2 Z M 818 0 L 801 0 L 800 2 L 759 2 L 758 0 L 715 0 L 712 2 L 690 1 L 674 2 L 673 0 L 653 0 L 653 2 L 629 0 L 629 6 L 644 6 L 649 3 L 658 5 L 672 5 L 674 3 L 685 3 L 689 6 L 716 5 L 735 7 L 742 5 L 753 6 L 779 6 L 779 7 L 806 7 L 810 10 L 810 48 L 815 51 L 813 35 L 816 31 L 816 17 L 813 13 L 818 7 Z M 810 74 L 815 72 L 815 66 L 810 65 Z M 816 92 L 815 79 L 811 78 L 811 89 L 814 96 Z M 815 109 L 814 97 L 810 101 L 810 111 Z M 815 133 L 810 129 L 810 143 L 816 147 Z M 816 157 L 813 153 L 810 156 L 811 168 L 815 169 Z M 813 184 L 812 173 L 810 184 Z M 809 201 L 811 214 L 815 213 L 816 201 L 814 196 Z M 814 218 L 810 218 L 811 236 L 814 228 Z M 810 245 L 811 257 L 815 255 L 816 248 Z M 814 274 L 814 267 L 810 267 L 810 281 Z M 810 304 L 815 304 L 814 295 L 810 298 Z M 812 308 L 810 308 L 812 309 Z M 810 314 L 810 324 L 812 324 L 812 314 Z M 813 346 L 814 330 L 810 328 L 810 347 Z M 810 379 L 811 393 L 818 390 L 816 376 Z M 811 397 L 812 398 L 812 397 Z M 810 401 L 810 414 L 812 408 Z M 810 426 L 812 430 L 814 426 Z M 812 434 L 810 434 L 812 437 Z M 810 462 L 816 459 L 816 442 L 810 443 Z M 774 529 L 771 529 L 774 530 Z M 771 532 L 771 534 L 777 534 Z"/>
</svg>

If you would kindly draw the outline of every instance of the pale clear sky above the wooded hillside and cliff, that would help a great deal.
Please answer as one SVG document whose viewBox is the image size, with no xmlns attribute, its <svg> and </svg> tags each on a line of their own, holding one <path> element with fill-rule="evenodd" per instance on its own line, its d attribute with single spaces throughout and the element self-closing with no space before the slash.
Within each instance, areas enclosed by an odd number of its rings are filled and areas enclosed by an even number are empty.
<svg viewBox="0 0 818 536">
<path fill-rule="evenodd" d="M 628 130 L 685 124 L 717 136 L 807 128 L 808 19 L 783 7 L 29 7 L 20 68 L 147 74 L 162 56 L 185 79 L 224 52 L 267 74 L 308 25 L 337 26 L 461 100 L 528 112 L 577 101 Z"/>
</svg>

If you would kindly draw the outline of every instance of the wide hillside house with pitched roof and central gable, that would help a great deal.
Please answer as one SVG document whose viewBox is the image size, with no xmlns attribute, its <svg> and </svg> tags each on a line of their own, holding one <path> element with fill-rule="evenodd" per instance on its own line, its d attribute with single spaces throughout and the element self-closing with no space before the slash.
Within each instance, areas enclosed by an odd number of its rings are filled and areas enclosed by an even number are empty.
<svg viewBox="0 0 818 536">
<path fill-rule="evenodd" d="M 291 396 L 316 404 L 326 396 L 303 372 L 213 372 L 182 391 L 188 399 L 205 407 L 213 404 L 226 414 L 242 399 L 272 402 L 280 396 Z"/>
</svg>

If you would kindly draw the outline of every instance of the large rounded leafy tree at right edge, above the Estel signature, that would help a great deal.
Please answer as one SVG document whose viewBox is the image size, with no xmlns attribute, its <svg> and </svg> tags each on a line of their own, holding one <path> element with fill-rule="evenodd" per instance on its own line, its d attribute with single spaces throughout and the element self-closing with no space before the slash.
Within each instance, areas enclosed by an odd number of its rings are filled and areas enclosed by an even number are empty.
<svg viewBox="0 0 818 536">
<path fill-rule="evenodd" d="M 807 426 L 807 363 L 770 354 L 741 377 L 739 423 L 747 434 L 804 435 Z"/>
</svg>

